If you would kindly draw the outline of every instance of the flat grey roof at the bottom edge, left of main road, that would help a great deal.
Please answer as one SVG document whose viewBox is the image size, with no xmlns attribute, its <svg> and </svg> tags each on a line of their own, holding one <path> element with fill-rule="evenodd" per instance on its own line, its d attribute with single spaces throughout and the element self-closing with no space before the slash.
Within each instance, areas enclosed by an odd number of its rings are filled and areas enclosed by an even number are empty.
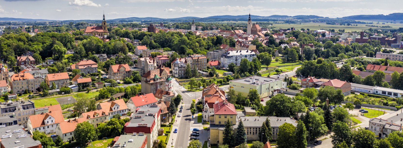
<svg viewBox="0 0 403 148">
<path fill-rule="evenodd" d="M 118 141 L 115 142 L 112 148 L 120 148 L 124 144 L 126 144 L 126 147 L 128 148 L 140 148 L 143 145 L 145 138 L 147 138 L 147 136 L 139 136 L 138 134 L 120 135 Z M 132 142 L 129 142 L 129 140 L 131 140 Z"/>
</svg>

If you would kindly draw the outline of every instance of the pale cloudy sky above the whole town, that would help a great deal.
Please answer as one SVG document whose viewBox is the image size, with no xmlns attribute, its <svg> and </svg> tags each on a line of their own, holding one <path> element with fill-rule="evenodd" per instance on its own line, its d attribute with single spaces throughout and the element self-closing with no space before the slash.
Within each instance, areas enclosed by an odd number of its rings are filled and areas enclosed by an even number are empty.
<svg viewBox="0 0 403 148">
<path fill-rule="evenodd" d="M 100 20 L 215 15 L 318 15 L 330 18 L 403 12 L 403 0 L 0 0 L 0 17 Z"/>
</svg>

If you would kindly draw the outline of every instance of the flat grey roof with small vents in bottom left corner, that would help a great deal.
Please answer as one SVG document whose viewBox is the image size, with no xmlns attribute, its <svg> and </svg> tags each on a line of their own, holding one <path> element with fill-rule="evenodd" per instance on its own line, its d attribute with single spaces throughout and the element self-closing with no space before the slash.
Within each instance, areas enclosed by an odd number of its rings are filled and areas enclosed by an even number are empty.
<svg viewBox="0 0 403 148">
<path fill-rule="evenodd" d="M 15 130 L 21 130 L 15 132 Z M 8 132 L 10 131 L 10 132 Z M 11 126 L 6 126 L 6 127 L 0 127 L 0 134 L 3 135 L 7 135 L 7 134 L 12 134 L 11 137 L 9 138 L 1 138 L 1 143 L 2 146 L 4 146 L 5 148 L 15 148 L 15 147 L 25 147 L 25 148 L 29 148 L 29 147 L 33 147 L 33 146 L 38 146 L 39 144 L 41 144 L 41 142 L 39 142 L 38 140 L 33 140 L 31 138 L 31 135 L 28 134 L 27 132 L 25 132 L 19 125 L 11 125 Z M 24 134 L 26 134 L 25 136 L 23 136 Z M 23 136 L 21 138 L 19 138 L 19 135 Z M 17 142 L 17 143 L 16 143 Z"/>
</svg>

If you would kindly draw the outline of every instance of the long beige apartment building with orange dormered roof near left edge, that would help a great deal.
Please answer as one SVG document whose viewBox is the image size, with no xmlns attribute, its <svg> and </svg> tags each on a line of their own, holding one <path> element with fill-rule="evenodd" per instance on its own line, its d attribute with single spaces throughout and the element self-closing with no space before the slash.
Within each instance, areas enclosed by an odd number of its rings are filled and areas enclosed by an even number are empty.
<svg viewBox="0 0 403 148">
<path fill-rule="evenodd" d="M 10 78 L 10 81 L 10 87 L 14 93 L 25 93 L 26 90 L 36 93 L 38 92 L 37 88 L 41 82 L 44 82 L 44 78 L 34 78 L 30 73 L 18 73 L 13 74 Z"/>
</svg>

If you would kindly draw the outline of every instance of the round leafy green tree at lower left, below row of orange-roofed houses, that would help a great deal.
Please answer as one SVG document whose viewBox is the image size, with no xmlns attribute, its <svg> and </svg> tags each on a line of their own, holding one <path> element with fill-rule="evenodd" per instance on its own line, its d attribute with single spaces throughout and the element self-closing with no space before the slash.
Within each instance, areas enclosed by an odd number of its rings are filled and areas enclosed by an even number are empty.
<svg viewBox="0 0 403 148">
<path fill-rule="evenodd" d="M 74 137 L 80 144 L 85 144 L 98 138 L 95 127 L 89 122 L 78 123 L 76 129 L 74 129 Z"/>
</svg>

